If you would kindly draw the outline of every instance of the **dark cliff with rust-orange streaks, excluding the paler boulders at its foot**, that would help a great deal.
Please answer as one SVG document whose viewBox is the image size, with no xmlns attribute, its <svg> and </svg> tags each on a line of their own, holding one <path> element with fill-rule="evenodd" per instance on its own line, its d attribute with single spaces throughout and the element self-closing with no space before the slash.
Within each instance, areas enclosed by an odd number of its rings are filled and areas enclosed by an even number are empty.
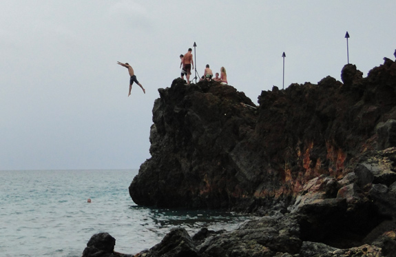
<svg viewBox="0 0 396 257">
<path fill-rule="evenodd" d="M 133 201 L 263 213 L 286 209 L 313 178 L 340 181 L 363 154 L 396 146 L 396 63 L 366 78 L 345 65 L 341 77 L 263 91 L 257 109 L 230 85 L 175 79 L 158 90 Z"/>
</svg>

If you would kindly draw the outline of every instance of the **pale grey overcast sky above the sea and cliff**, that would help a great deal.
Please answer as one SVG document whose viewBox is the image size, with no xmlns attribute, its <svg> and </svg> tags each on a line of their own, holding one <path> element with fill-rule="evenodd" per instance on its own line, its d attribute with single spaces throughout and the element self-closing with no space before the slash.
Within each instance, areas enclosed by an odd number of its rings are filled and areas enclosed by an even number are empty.
<svg viewBox="0 0 396 257">
<path fill-rule="evenodd" d="M 394 59 L 396 1 L 0 1 L 0 170 L 138 169 L 158 88 L 193 48 L 257 103 Z M 350 38 L 345 39 L 348 31 Z M 348 54 L 347 54 L 348 46 Z M 285 52 L 286 57 L 282 58 Z M 116 62 L 134 68 L 146 94 Z"/>
</svg>

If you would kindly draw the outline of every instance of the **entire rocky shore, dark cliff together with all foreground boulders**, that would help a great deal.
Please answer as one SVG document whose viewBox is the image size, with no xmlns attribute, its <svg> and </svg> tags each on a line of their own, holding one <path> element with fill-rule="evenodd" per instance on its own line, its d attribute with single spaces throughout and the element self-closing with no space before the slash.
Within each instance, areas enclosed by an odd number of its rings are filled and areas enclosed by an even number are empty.
<svg viewBox="0 0 396 257">
<path fill-rule="evenodd" d="M 214 81 L 159 89 L 133 201 L 258 217 L 175 228 L 137 256 L 396 256 L 396 63 L 365 78 L 345 65 L 341 79 L 274 87 L 258 106 Z M 111 238 L 94 235 L 83 256 L 131 256 Z"/>
</svg>

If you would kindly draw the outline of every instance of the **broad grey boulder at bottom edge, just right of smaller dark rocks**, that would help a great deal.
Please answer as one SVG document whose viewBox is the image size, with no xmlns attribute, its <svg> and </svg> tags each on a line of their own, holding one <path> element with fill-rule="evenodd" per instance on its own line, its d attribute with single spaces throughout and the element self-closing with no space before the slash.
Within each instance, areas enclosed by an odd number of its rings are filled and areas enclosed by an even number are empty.
<svg viewBox="0 0 396 257">
<path fill-rule="evenodd" d="M 298 254 L 300 228 L 291 216 L 250 220 L 233 232 L 211 236 L 198 246 L 200 256 L 275 256 Z"/>
</svg>

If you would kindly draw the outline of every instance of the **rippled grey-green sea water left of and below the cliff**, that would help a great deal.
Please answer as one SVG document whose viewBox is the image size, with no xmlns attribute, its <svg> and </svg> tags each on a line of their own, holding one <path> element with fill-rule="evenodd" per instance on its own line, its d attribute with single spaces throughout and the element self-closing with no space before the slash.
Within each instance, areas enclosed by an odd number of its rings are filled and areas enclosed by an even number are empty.
<svg viewBox="0 0 396 257">
<path fill-rule="evenodd" d="M 136 254 L 173 227 L 236 229 L 247 216 L 136 205 L 128 187 L 138 171 L 0 171 L 0 256 L 81 256 L 93 234 L 116 238 L 115 251 Z M 87 203 L 87 199 L 92 200 Z"/>
</svg>

